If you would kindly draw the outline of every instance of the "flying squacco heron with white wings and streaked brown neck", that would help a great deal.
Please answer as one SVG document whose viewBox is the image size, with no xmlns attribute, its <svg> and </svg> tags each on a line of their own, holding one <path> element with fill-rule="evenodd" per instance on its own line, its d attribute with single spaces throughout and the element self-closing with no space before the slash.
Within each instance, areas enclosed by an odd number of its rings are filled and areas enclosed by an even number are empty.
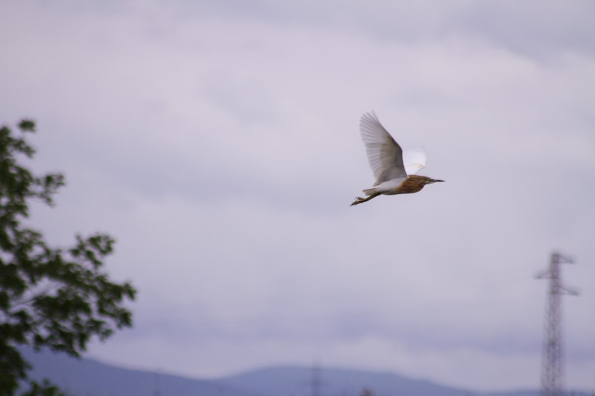
<svg viewBox="0 0 595 396">
<path fill-rule="evenodd" d="M 364 190 L 368 197 L 355 198 L 351 206 L 367 202 L 378 195 L 412 194 L 421 191 L 427 184 L 444 181 L 415 175 L 425 166 L 425 151 L 420 148 L 403 151 L 374 112 L 362 116 L 359 133 L 366 146 L 368 162 L 376 182 L 372 188 Z"/>
</svg>

